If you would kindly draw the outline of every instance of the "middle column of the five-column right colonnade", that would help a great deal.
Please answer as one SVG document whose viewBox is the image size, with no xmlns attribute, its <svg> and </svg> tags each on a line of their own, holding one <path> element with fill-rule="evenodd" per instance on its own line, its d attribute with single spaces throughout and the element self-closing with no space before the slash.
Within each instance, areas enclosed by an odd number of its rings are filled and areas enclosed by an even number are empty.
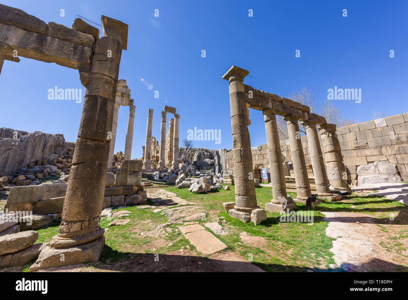
<svg viewBox="0 0 408 300">
<path fill-rule="evenodd" d="M 290 153 L 292 154 L 293 170 L 295 171 L 296 181 L 296 200 L 306 203 L 306 200 L 312 196 L 310 191 L 309 177 L 306 170 L 306 162 L 300 139 L 300 130 L 298 119 L 300 115 L 290 114 L 284 120 L 288 123 L 288 135 L 290 143 Z"/>
</svg>

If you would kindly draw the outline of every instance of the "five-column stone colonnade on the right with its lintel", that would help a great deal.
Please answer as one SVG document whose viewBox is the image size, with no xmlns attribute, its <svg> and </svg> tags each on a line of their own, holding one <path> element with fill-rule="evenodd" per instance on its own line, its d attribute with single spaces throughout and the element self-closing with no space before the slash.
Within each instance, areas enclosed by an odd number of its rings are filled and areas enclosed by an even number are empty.
<svg viewBox="0 0 408 300">
<path fill-rule="evenodd" d="M 276 115 L 284 116 L 284 120 L 288 124 L 296 179 L 297 199 L 295 200 L 302 203 L 315 201 L 315 196 L 310 191 L 302 140 L 300 138 L 299 121 L 307 128 L 306 135 L 310 145 L 317 196 L 324 198 L 336 197 L 330 192 L 328 181 L 330 181 L 333 189 L 349 191 L 346 168 L 344 167 L 339 141 L 335 135 L 336 125 L 327 124 L 324 117 L 310 113 L 308 106 L 275 94 L 256 90 L 244 84 L 244 77 L 248 74 L 249 71 L 232 66 L 222 77 L 228 80 L 229 83 L 231 129 L 233 134 L 235 206 L 233 209 L 228 210 L 228 213 L 231 216 L 247 220 L 248 215 L 259 208 L 253 181 L 251 140 L 248 132 L 251 121 L 249 120 L 248 108 L 261 110 L 264 115 L 271 185 L 273 188 L 273 199 L 271 203 L 266 203 L 266 210 L 281 212 L 295 207 L 295 203 L 286 193 Z M 317 125 L 324 137 L 324 150 L 329 176 L 326 174 L 323 154 L 319 145 Z"/>
</svg>

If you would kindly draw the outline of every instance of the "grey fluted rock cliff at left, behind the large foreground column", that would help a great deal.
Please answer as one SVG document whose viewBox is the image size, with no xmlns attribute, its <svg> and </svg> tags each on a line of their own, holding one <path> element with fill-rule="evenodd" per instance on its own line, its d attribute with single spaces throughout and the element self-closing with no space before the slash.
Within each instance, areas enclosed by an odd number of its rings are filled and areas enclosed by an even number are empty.
<svg viewBox="0 0 408 300">
<path fill-rule="evenodd" d="M 0 128 L 0 176 L 17 173 L 38 160 L 51 162 L 68 154 L 68 148 L 75 148 L 75 143 L 66 142 L 62 134 Z"/>
</svg>

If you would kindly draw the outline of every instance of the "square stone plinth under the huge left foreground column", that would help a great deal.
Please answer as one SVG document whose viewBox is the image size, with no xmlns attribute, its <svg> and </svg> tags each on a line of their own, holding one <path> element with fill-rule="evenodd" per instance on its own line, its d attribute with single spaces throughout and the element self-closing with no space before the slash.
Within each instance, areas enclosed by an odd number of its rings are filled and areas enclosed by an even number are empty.
<svg viewBox="0 0 408 300">
<path fill-rule="evenodd" d="M 105 236 L 75 247 L 55 249 L 45 246 L 29 272 L 38 269 L 76 265 L 82 262 L 97 262 L 105 245 Z"/>
</svg>

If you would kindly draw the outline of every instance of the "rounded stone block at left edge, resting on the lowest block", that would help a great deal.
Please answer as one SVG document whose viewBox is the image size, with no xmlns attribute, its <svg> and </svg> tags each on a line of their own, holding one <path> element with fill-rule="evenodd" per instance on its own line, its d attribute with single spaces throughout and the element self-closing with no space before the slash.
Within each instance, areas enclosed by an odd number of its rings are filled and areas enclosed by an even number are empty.
<svg viewBox="0 0 408 300">
<path fill-rule="evenodd" d="M 0 237 L 0 256 L 30 247 L 38 239 L 38 232 L 30 230 Z"/>
</svg>

